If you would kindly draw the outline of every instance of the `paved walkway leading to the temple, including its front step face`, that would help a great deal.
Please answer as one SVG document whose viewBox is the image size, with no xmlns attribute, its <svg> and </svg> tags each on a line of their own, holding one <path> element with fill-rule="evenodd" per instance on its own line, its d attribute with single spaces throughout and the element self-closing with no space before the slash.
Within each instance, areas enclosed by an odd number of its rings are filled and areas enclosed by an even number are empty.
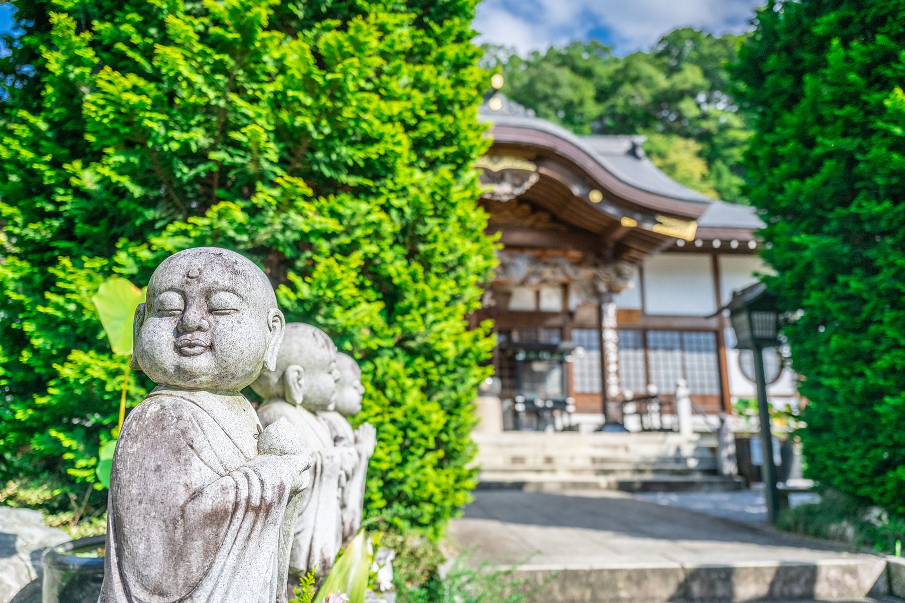
<svg viewBox="0 0 905 603">
<path fill-rule="evenodd" d="M 863 600 L 885 561 L 632 495 L 475 493 L 451 527 L 473 562 L 518 566 L 544 603 Z"/>
</svg>

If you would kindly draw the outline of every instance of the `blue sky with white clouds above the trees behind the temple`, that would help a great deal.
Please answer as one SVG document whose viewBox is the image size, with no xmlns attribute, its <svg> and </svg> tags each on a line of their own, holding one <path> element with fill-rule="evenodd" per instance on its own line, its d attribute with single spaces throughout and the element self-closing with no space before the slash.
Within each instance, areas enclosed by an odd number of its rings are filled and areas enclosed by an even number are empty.
<svg viewBox="0 0 905 603">
<path fill-rule="evenodd" d="M 713 33 L 748 29 L 765 0 L 484 0 L 478 42 L 544 50 L 605 29 L 619 54 L 650 48 L 664 33 L 691 25 Z"/>
</svg>

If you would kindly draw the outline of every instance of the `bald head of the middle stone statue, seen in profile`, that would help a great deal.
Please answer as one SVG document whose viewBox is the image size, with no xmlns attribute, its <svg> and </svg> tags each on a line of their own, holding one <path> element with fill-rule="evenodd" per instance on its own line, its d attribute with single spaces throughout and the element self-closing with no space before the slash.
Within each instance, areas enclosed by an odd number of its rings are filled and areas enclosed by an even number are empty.
<svg viewBox="0 0 905 603">
<path fill-rule="evenodd" d="M 264 400 L 281 399 L 309 410 L 329 410 L 337 392 L 337 346 L 318 327 L 286 325 L 273 371 L 261 373 L 252 390 Z"/>
</svg>

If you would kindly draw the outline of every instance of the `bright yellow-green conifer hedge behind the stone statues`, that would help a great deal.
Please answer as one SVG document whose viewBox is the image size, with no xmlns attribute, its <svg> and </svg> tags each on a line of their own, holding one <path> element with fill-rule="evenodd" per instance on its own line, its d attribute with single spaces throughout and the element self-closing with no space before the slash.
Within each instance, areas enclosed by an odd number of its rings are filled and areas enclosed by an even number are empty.
<svg viewBox="0 0 905 603">
<path fill-rule="evenodd" d="M 437 537 L 474 484 L 493 344 L 465 321 L 495 261 L 475 4 L 20 3 L 0 61 L 0 479 L 95 482 L 118 392 L 151 384 L 123 375 L 91 297 L 218 245 L 355 355 L 379 438 L 367 513 Z"/>
</svg>

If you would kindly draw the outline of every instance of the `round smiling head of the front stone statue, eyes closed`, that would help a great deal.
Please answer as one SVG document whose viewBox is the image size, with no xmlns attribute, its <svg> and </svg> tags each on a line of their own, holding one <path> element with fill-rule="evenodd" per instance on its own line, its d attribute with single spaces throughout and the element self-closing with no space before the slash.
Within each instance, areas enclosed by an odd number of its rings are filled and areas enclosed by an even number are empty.
<svg viewBox="0 0 905 603">
<path fill-rule="evenodd" d="M 261 269 L 202 247 L 165 259 L 138 306 L 133 365 L 158 385 L 240 391 L 279 351 L 283 318 Z"/>
</svg>

